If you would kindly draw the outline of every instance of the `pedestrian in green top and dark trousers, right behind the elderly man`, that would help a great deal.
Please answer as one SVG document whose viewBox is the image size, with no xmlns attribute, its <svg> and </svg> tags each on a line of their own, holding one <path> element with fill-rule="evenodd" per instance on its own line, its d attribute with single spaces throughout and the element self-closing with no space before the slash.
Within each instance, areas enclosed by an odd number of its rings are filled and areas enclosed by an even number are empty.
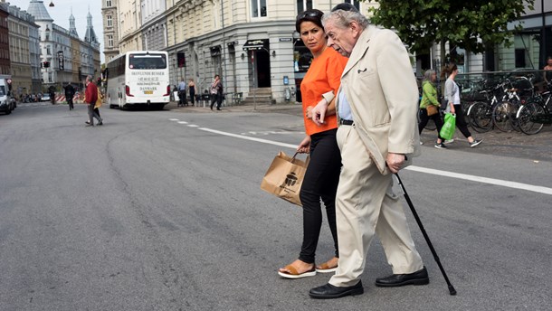
<svg viewBox="0 0 552 311">
<path fill-rule="evenodd" d="M 444 149 L 447 146 L 444 145 L 444 139 L 439 135 L 441 128 L 443 127 L 443 118 L 441 118 L 441 113 L 439 108 L 441 104 L 437 100 L 437 89 L 435 88 L 435 81 L 437 80 L 437 73 L 433 70 L 425 71 L 424 81 L 422 81 L 422 100 L 420 100 L 420 123 L 418 124 L 418 133 L 422 134 L 424 127 L 427 125 L 427 122 L 432 119 L 437 127 L 437 143 L 435 144 L 436 148 Z M 430 115 L 431 108 L 434 111 Z"/>
</svg>

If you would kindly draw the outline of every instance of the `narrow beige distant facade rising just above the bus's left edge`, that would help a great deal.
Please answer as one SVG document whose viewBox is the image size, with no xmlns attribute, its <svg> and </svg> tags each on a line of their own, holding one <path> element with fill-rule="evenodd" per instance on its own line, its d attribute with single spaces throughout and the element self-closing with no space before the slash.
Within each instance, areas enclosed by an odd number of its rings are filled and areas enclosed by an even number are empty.
<svg viewBox="0 0 552 311">
<path fill-rule="evenodd" d="M 103 18 L 103 53 L 105 61 L 111 61 L 119 55 L 119 0 L 101 0 Z"/>
</svg>

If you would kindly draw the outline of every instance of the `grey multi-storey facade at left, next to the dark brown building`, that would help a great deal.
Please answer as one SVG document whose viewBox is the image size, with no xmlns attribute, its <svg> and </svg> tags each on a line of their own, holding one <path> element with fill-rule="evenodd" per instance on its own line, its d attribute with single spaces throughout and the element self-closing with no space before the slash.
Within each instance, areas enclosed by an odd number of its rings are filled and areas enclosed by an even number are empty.
<svg viewBox="0 0 552 311">
<path fill-rule="evenodd" d="M 34 23 L 33 15 L 14 5 L 8 6 L 8 14 L 12 90 L 20 97 L 40 91 L 40 80 L 36 76 L 40 70 L 40 62 L 36 57 L 40 51 L 36 40 L 39 26 Z"/>
</svg>

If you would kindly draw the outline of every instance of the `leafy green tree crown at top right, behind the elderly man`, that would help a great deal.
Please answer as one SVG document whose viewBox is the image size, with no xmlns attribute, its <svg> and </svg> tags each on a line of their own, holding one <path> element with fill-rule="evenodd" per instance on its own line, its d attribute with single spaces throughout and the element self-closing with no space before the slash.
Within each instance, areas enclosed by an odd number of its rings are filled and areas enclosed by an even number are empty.
<svg viewBox="0 0 552 311">
<path fill-rule="evenodd" d="M 363 0 L 365 1 L 365 0 Z M 395 28 L 411 52 L 425 53 L 434 43 L 441 45 L 441 63 L 445 61 L 445 43 L 470 52 L 484 52 L 504 43 L 511 45 L 508 24 L 519 19 L 535 0 L 368 0 L 377 2 L 372 9 L 372 24 Z M 514 31 L 519 30 L 519 24 Z"/>
</svg>

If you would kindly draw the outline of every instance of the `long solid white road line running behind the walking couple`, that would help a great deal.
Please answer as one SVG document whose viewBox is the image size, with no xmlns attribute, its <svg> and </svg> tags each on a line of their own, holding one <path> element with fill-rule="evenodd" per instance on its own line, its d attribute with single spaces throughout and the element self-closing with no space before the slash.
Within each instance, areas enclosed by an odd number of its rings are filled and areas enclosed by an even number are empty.
<svg viewBox="0 0 552 311">
<path fill-rule="evenodd" d="M 195 127 L 197 127 L 197 126 L 195 126 Z M 274 146 L 284 146 L 284 147 L 288 147 L 288 148 L 291 148 L 291 149 L 294 149 L 294 150 L 297 149 L 297 145 L 285 144 L 285 143 L 272 141 L 272 140 L 268 140 L 268 139 L 262 139 L 262 138 L 257 138 L 257 137 L 246 137 L 246 136 L 243 136 L 243 135 L 227 133 L 227 132 L 223 132 L 223 131 L 219 131 L 219 130 L 212 129 L 212 128 L 207 128 L 207 127 L 199 127 L 198 129 L 200 129 L 202 131 L 205 131 L 205 132 L 211 132 L 211 133 L 214 133 L 214 134 L 219 134 L 219 135 L 223 135 L 223 136 L 227 136 L 227 137 L 241 138 L 241 139 L 245 139 L 245 140 L 255 141 L 255 142 L 258 142 L 258 143 L 270 144 L 270 145 L 274 145 Z M 534 193 L 552 194 L 552 188 L 547 188 L 547 187 L 533 185 L 533 184 L 522 184 L 522 183 L 510 182 L 510 181 L 506 181 L 506 180 L 481 177 L 481 176 L 476 176 L 476 175 L 471 175 L 471 174 L 460 174 L 460 173 L 436 170 L 436 169 L 433 169 L 433 168 L 426 168 L 426 167 L 415 166 L 415 165 L 407 166 L 404 169 L 414 171 L 414 172 L 419 172 L 419 173 L 435 174 L 435 175 L 440 175 L 440 176 L 444 176 L 444 177 L 451 177 L 451 178 L 456 178 L 456 179 L 468 180 L 468 181 L 477 182 L 477 183 L 481 183 L 481 184 L 495 184 L 495 185 L 500 185 L 500 186 L 503 186 L 503 187 L 513 188 L 513 189 L 527 190 L 527 191 L 531 191 L 531 192 L 534 192 Z"/>
</svg>

